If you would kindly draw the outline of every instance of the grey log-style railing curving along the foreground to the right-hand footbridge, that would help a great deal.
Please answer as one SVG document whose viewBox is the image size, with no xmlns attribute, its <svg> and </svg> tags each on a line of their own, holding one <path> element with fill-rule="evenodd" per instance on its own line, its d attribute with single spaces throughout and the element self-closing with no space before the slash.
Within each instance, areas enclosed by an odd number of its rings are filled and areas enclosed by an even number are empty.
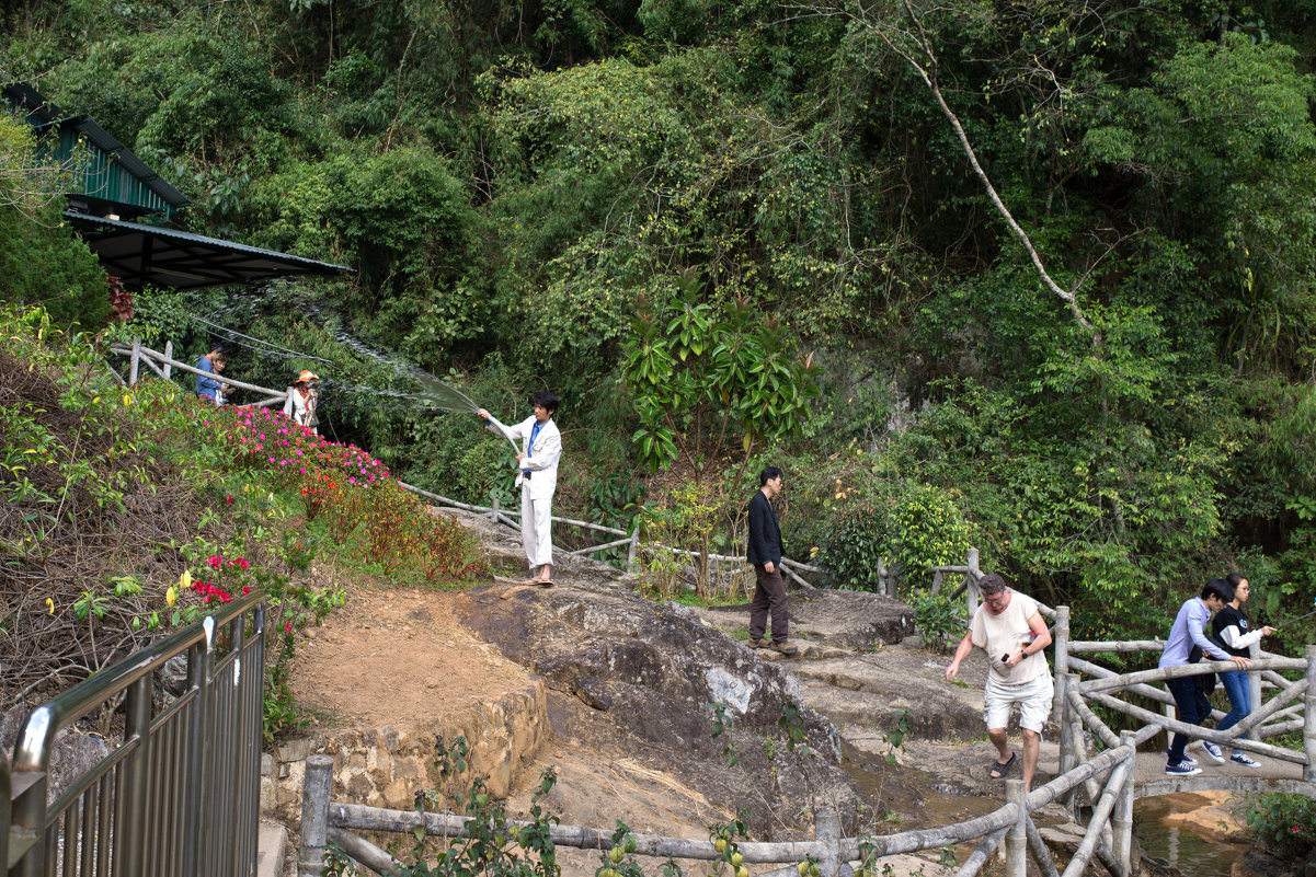
<svg viewBox="0 0 1316 877">
<path fill-rule="evenodd" d="M 1069 617 L 1069 607 L 1059 606 L 1059 618 Z M 1049 877 L 1079 877 L 1096 859 L 1116 877 L 1129 877 L 1134 873 L 1133 851 L 1133 799 L 1142 795 L 1167 794 L 1178 790 L 1250 790 L 1250 792 L 1291 792 L 1316 795 L 1316 646 L 1305 647 L 1302 659 L 1265 656 L 1253 665 L 1254 676 L 1273 682 L 1279 693 L 1266 705 L 1255 710 L 1248 719 L 1228 731 L 1212 731 L 1196 724 L 1178 722 L 1173 715 L 1161 715 L 1134 703 L 1120 699 L 1117 694 L 1150 697 L 1158 702 L 1173 698 L 1150 682 L 1166 678 L 1179 678 L 1211 672 L 1236 669 L 1232 661 L 1211 661 L 1187 667 L 1140 671 L 1115 675 L 1111 671 L 1088 664 L 1073 656 L 1076 651 L 1140 651 L 1159 650 L 1158 642 L 1141 643 L 1088 643 L 1071 642 L 1069 650 L 1070 671 L 1058 673 L 1063 689 L 1063 707 L 1059 713 L 1061 727 L 1061 774 L 1046 785 L 1025 793 L 1021 780 L 1005 781 L 1005 803 L 983 817 L 936 828 L 901 831 L 894 835 L 869 835 L 842 838 L 840 820 L 834 813 L 820 813 L 815 822 L 813 840 L 784 843 L 742 843 L 737 851 L 747 864 L 791 864 L 761 872 L 758 877 L 792 877 L 794 864 L 812 857 L 822 877 L 836 877 L 842 865 L 851 870 L 866 869 L 878 873 L 875 866 L 880 859 L 899 853 L 937 849 L 946 844 L 963 844 L 976 840 L 969 859 L 955 872 L 957 877 L 974 877 L 1004 844 L 1004 873 L 1007 877 L 1025 877 L 1030 857 L 1040 873 Z M 1291 681 L 1279 676 L 1280 672 L 1299 671 L 1303 678 Z M 1079 673 L 1091 678 L 1080 680 Z M 1296 706 L 1291 701 L 1304 698 Z M 1124 715 L 1142 721 L 1138 731 L 1112 731 L 1092 710 L 1099 705 Z M 1302 711 L 1302 719 L 1284 718 Z M 1249 740 L 1249 734 L 1274 736 L 1295 730 L 1303 730 L 1303 749 L 1294 751 Z M 1084 728 L 1095 740 L 1107 747 L 1100 753 L 1090 753 L 1084 743 Z M 1167 777 L 1166 780 L 1137 782 L 1137 749 L 1161 732 L 1180 731 L 1195 739 L 1212 740 L 1245 752 L 1254 752 L 1284 763 L 1302 765 L 1302 778 L 1263 776 L 1212 776 Z M 382 831 L 424 834 L 436 838 L 457 838 L 465 831 L 468 819 L 453 814 L 430 814 L 403 810 L 384 810 L 351 803 L 330 803 L 333 759 L 312 756 L 307 761 L 307 784 L 303 793 L 301 810 L 301 876 L 318 874 L 320 860 L 328 844 L 342 848 L 357 863 L 380 874 L 388 874 L 400 868 L 400 863 L 387 852 L 355 835 L 355 831 Z M 1078 792 L 1086 794 L 1090 809 L 1073 807 L 1075 815 L 1087 814 L 1087 826 L 1078 848 L 1059 870 L 1050 851 L 1044 843 L 1033 820 L 1033 814 L 1053 802 L 1075 803 Z M 524 823 L 515 823 L 524 824 Z M 563 847 L 586 849 L 607 849 L 612 831 L 584 826 L 554 826 L 553 843 Z M 719 861 L 722 853 L 707 840 L 667 838 L 658 835 L 636 835 L 638 856 L 695 859 Z"/>
</svg>

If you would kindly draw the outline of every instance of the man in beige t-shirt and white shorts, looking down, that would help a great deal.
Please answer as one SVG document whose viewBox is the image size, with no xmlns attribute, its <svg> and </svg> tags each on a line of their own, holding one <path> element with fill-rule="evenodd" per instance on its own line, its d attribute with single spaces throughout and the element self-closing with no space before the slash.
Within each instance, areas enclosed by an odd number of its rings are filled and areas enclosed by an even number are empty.
<svg viewBox="0 0 1316 877">
<path fill-rule="evenodd" d="M 969 623 L 969 632 L 955 647 L 955 655 L 946 667 L 946 681 L 955 677 L 959 664 L 974 647 L 986 650 L 988 671 L 983 689 L 983 721 L 987 723 L 987 739 L 998 753 L 990 776 L 1003 780 L 1015 767 L 1016 756 L 1009 748 L 1005 728 L 1009 710 L 1017 703 L 1024 738 L 1024 789 L 1032 790 L 1037 753 L 1042 748 L 1042 727 L 1055 693 L 1051 671 L 1042 653 L 1051 644 L 1051 634 L 1037 601 L 1007 588 L 1005 580 L 996 573 L 983 576 L 978 588 L 983 602 Z"/>
</svg>

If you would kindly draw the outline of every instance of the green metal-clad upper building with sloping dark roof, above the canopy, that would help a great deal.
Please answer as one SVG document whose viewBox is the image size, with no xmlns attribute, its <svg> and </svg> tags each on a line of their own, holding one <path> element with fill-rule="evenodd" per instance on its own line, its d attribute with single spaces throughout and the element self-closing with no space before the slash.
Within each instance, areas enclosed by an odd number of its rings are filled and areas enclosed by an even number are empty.
<svg viewBox="0 0 1316 877">
<path fill-rule="evenodd" d="M 167 218 L 187 197 L 87 116 L 70 116 L 30 85 L 4 87 L 4 96 L 42 135 L 50 158 L 72 168 L 70 196 L 83 196 L 84 212 Z M 79 150 L 79 145 L 86 151 Z M 99 202 L 99 204 L 97 204 Z"/>
</svg>

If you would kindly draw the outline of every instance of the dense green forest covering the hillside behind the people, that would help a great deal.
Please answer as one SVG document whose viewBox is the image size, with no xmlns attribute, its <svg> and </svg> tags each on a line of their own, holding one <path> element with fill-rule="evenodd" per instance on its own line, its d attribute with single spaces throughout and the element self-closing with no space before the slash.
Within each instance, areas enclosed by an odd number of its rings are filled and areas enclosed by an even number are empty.
<svg viewBox="0 0 1316 877">
<path fill-rule="evenodd" d="M 676 306 L 672 279 L 697 277 L 700 306 L 779 321 L 765 359 L 817 351 L 801 438 L 747 465 L 794 465 L 801 556 L 915 544 L 921 518 L 894 510 L 933 490 L 987 564 L 1094 610 L 1094 636 L 1158 626 L 1130 607 L 1227 567 L 1270 613 L 1312 594 L 1312 3 L 25 0 L 3 18 L 4 75 L 132 143 L 193 229 L 358 270 L 143 313 L 184 347 L 204 341 L 191 312 L 333 359 L 341 437 L 404 477 L 484 498 L 496 450 L 383 394 L 405 369 L 349 335 L 490 408 L 559 391 L 562 500 L 629 519 L 636 302 Z M 253 379 L 290 368 L 242 356 Z"/>
</svg>

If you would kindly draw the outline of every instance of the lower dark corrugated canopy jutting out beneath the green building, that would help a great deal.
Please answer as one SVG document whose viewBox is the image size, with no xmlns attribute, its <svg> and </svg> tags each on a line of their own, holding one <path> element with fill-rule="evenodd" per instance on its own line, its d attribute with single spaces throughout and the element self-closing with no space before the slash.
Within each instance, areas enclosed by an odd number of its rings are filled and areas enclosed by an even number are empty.
<svg viewBox="0 0 1316 877">
<path fill-rule="evenodd" d="M 64 210 L 64 217 L 78 229 L 105 271 L 120 277 L 128 289 L 145 285 L 200 289 L 351 271 L 328 262 L 76 210 Z"/>
</svg>

